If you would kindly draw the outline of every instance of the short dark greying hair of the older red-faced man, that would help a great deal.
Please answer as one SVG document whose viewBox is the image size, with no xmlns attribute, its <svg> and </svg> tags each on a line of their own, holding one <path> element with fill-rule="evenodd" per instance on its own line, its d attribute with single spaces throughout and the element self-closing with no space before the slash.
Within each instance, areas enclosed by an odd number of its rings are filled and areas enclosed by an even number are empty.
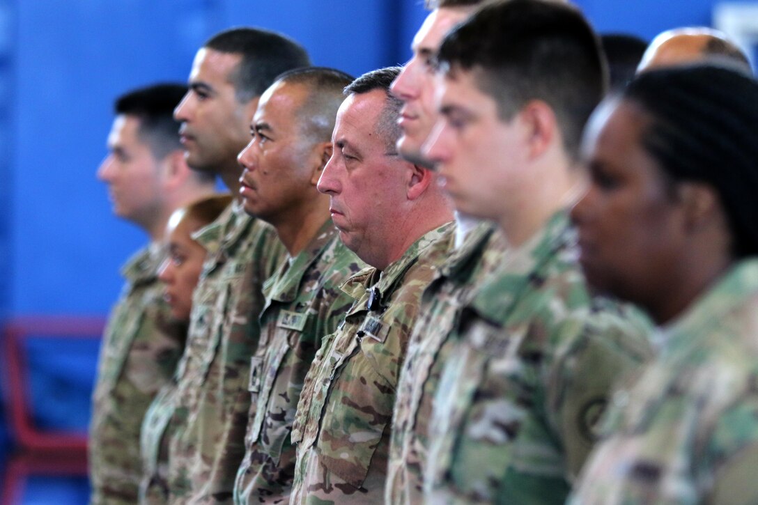
<svg viewBox="0 0 758 505">
<path fill-rule="evenodd" d="M 384 67 L 375 71 L 367 72 L 345 87 L 346 95 L 362 95 L 374 89 L 381 89 L 385 95 L 384 111 L 377 122 L 377 133 L 384 137 L 388 152 L 396 151 L 397 140 L 402 134 L 397 120 L 400 117 L 402 100 L 390 93 L 390 84 L 402 71 L 402 67 Z"/>
</svg>

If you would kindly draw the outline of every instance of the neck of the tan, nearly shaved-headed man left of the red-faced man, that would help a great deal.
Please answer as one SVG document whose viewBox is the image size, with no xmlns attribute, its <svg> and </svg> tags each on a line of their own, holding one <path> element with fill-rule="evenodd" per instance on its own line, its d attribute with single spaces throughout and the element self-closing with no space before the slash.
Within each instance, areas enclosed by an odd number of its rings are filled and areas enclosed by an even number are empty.
<svg viewBox="0 0 758 505">
<path fill-rule="evenodd" d="M 318 230 L 329 218 L 329 198 L 319 195 L 317 199 L 288 209 L 287 213 L 272 220 L 279 240 L 293 258 L 314 239 Z"/>
</svg>

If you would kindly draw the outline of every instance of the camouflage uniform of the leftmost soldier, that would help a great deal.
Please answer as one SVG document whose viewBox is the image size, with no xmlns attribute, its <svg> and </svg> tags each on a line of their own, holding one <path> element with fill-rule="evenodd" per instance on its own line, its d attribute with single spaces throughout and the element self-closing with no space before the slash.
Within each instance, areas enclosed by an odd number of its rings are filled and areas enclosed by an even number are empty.
<svg viewBox="0 0 758 505">
<path fill-rule="evenodd" d="M 137 252 L 103 336 L 89 427 L 90 503 L 136 503 L 142 463 L 139 428 L 150 402 L 174 373 L 183 336 L 163 300 L 157 244 Z"/>
</svg>

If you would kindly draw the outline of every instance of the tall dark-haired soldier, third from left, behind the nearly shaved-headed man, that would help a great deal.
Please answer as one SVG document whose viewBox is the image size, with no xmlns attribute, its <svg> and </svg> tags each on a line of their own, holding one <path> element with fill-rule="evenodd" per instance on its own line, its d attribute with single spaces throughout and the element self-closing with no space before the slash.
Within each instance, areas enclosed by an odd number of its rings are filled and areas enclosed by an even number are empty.
<svg viewBox="0 0 758 505">
<path fill-rule="evenodd" d="M 258 98 L 279 74 L 308 64 L 305 49 L 278 33 L 233 28 L 211 37 L 197 52 L 189 91 L 174 111 L 187 164 L 218 175 L 238 194 L 236 157 L 249 141 Z M 169 501 L 230 503 L 245 454 L 262 285 L 283 259 L 283 246 L 271 226 L 245 213 L 240 199 L 196 240 L 208 253 L 177 369 Z"/>
</svg>

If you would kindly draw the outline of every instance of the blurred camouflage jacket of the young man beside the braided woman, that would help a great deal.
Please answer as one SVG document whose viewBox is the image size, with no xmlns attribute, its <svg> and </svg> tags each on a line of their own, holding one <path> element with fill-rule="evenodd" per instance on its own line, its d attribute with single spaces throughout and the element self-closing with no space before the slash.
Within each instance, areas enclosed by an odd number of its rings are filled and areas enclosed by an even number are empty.
<svg viewBox="0 0 758 505">
<path fill-rule="evenodd" d="M 449 337 L 425 500 L 564 503 L 612 384 L 650 356 L 646 323 L 587 292 L 565 212 L 509 248 Z"/>
</svg>

